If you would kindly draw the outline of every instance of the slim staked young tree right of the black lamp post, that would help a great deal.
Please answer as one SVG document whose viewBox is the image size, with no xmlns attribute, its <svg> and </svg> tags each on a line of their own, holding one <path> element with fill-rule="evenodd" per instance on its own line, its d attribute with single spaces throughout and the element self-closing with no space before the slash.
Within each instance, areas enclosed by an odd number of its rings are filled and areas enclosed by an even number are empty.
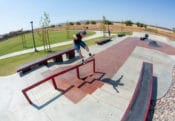
<svg viewBox="0 0 175 121">
<path fill-rule="evenodd" d="M 39 36 L 41 40 L 43 41 L 45 51 L 51 51 L 50 38 L 49 38 L 49 32 L 48 32 L 49 24 L 50 24 L 49 14 L 44 12 L 40 20 L 40 25 L 42 29 L 41 31 L 39 31 Z"/>
</svg>

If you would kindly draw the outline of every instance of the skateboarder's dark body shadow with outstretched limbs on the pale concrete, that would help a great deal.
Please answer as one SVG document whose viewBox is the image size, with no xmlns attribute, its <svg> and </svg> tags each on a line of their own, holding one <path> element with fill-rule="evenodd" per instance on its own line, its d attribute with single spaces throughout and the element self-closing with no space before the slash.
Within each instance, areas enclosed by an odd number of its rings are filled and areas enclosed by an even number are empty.
<svg viewBox="0 0 175 121">
<path fill-rule="evenodd" d="M 113 88 L 115 89 L 115 91 L 116 91 L 117 93 L 119 93 L 117 87 L 118 87 L 118 86 L 123 86 L 123 85 L 124 85 L 123 83 L 121 83 L 121 79 L 122 79 L 122 78 L 123 78 L 123 75 L 121 75 L 120 78 L 117 79 L 117 80 L 111 80 L 110 78 L 104 78 L 104 79 L 102 79 L 101 81 L 104 82 L 104 83 L 108 83 L 108 84 L 112 85 Z"/>
</svg>

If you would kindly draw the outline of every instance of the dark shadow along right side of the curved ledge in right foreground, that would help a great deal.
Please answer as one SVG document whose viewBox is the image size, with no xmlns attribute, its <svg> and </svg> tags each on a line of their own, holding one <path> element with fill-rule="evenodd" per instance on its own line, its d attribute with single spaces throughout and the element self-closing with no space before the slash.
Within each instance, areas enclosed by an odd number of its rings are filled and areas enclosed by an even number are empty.
<svg viewBox="0 0 175 121">
<path fill-rule="evenodd" d="M 157 101 L 157 77 L 153 76 L 153 90 L 152 90 L 152 99 L 149 107 L 149 112 L 147 116 L 147 121 L 152 121 L 154 116 L 154 110 Z"/>
</svg>

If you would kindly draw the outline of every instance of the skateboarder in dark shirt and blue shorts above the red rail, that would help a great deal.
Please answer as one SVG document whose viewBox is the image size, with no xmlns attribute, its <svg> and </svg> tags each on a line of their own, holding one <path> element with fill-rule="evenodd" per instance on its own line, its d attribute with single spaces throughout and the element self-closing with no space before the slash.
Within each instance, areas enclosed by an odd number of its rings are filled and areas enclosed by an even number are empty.
<svg viewBox="0 0 175 121">
<path fill-rule="evenodd" d="M 89 56 L 92 56 L 92 53 L 89 51 L 89 47 L 86 45 L 85 42 L 82 41 L 82 39 L 85 37 L 86 35 L 86 30 L 88 29 L 88 27 L 86 27 L 84 30 L 76 33 L 75 35 L 73 35 L 73 40 L 74 40 L 74 48 L 75 50 L 78 52 L 80 58 L 82 59 L 82 63 L 85 64 L 85 60 L 83 58 L 83 55 L 81 53 L 81 49 L 80 46 L 83 47 L 89 54 Z"/>
</svg>

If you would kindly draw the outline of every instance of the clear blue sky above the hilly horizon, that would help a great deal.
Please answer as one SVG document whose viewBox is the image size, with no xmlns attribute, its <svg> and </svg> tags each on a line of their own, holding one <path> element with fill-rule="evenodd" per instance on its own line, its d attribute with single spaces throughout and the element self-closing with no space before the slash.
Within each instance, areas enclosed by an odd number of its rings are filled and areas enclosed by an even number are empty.
<svg viewBox="0 0 175 121">
<path fill-rule="evenodd" d="M 0 6 L 0 34 L 30 29 L 31 20 L 39 27 L 44 11 L 51 24 L 105 16 L 114 21 L 175 27 L 175 0 L 0 0 Z"/>
</svg>

